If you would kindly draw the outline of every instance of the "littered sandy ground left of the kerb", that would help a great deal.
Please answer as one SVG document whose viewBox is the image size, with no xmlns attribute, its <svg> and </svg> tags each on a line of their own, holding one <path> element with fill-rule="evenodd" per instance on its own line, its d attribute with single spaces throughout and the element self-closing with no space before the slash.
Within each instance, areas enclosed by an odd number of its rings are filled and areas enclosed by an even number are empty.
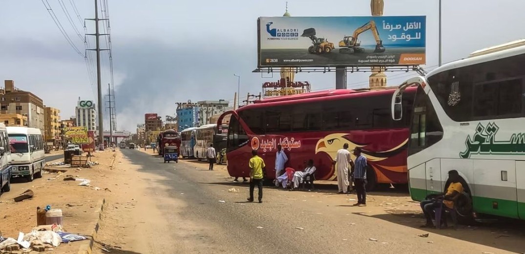
<svg viewBox="0 0 525 254">
<path fill-rule="evenodd" d="M 50 205 L 51 208 L 62 209 L 63 226 L 66 231 L 90 234 L 92 228 L 89 228 L 89 225 L 97 218 L 95 214 L 97 203 L 104 194 L 108 193 L 104 188 L 114 188 L 111 178 L 116 173 L 110 168 L 110 164 L 115 155 L 121 154 L 109 150 L 95 153 L 95 157 L 92 157 L 91 160 L 98 162 L 99 165 L 94 165 L 91 168 L 48 165 L 46 168 L 68 171 L 62 174 L 45 173 L 42 178 L 35 179 L 33 182 L 27 182 L 23 178 L 13 178 L 10 192 L 3 193 L 0 196 L 0 231 L 2 235 L 16 239 L 19 231 L 30 232 L 31 228 L 36 226 L 36 208 L 46 205 Z M 66 175 L 87 178 L 91 181 L 92 187 L 78 186 L 80 183 L 78 181 L 63 181 L 62 179 Z M 95 186 L 101 190 L 95 190 Z M 26 189 L 33 190 L 35 196 L 22 202 L 14 202 L 13 198 Z M 77 253 L 81 244 L 82 241 L 61 244 L 54 250 L 54 253 Z"/>
</svg>

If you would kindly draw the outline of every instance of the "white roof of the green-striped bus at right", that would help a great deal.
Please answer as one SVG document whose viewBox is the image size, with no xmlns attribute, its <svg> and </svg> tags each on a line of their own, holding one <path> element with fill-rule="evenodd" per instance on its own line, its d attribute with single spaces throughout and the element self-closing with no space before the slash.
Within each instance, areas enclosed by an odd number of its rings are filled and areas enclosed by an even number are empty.
<svg viewBox="0 0 525 254">
<path fill-rule="evenodd" d="M 468 58 L 449 62 L 448 64 L 430 71 L 426 76 L 430 77 L 446 70 L 481 64 L 482 62 L 489 62 L 521 54 L 525 54 L 525 39 L 474 51 Z"/>
</svg>

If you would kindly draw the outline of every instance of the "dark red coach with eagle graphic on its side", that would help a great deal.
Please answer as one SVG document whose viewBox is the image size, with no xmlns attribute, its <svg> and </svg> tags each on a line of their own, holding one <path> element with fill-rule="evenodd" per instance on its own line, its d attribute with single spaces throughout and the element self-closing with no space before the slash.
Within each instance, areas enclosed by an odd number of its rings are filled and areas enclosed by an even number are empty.
<svg viewBox="0 0 525 254">
<path fill-rule="evenodd" d="M 316 179 L 334 181 L 333 161 L 344 143 L 361 147 L 368 159 L 368 189 L 378 184 L 407 184 L 407 143 L 415 89 L 402 97 L 403 119 L 393 121 L 394 88 L 383 90 L 329 90 L 255 101 L 231 114 L 227 137 L 230 176 L 249 177 L 251 150 L 259 151 L 266 175 L 275 178 L 275 153 L 281 145 L 287 167 L 302 170 L 309 159 L 317 167 Z M 353 157 L 353 155 L 352 155 Z M 354 157 L 352 159 L 355 159 Z"/>
</svg>

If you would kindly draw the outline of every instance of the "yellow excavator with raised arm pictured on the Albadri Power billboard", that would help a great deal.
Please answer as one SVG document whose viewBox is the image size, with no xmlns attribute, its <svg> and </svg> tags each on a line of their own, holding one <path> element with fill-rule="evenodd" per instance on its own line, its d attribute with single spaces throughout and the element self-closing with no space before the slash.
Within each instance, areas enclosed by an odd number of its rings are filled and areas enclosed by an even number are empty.
<svg viewBox="0 0 525 254">
<path fill-rule="evenodd" d="M 379 32 L 377 31 L 377 27 L 375 26 L 374 20 L 370 20 L 370 22 L 364 24 L 358 29 L 355 29 L 354 34 L 352 36 L 344 36 L 343 40 L 339 41 L 339 52 L 341 54 L 354 54 L 354 52 L 364 52 L 364 48 L 360 47 L 361 41 L 358 40 L 358 36 L 367 30 L 372 30 L 372 33 L 375 38 L 376 45 L 374 53 L 384 52 L 385 47 L 383 47 L 383 41 L 379 37 Z"/>
</svg>

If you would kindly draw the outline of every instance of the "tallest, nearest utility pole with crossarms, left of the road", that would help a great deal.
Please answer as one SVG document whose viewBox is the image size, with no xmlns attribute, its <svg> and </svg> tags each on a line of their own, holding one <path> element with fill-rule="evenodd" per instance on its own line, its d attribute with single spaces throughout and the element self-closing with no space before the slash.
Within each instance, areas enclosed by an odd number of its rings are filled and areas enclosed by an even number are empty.
<svg viewBox="0 0 525 254">
<path fill-rule="evenodd" d="M 99 146 L 104 144 L 104 124 L 103 124 L 103 114 L 102 114 L 102 84 L 101 84 L 101 75 L 100 75 L 100 51 L 102 50 L 109 50 L 109 49 L 101 49 L 100 48 L 100 36 L 101 35 L 109 35 L 109 34 L 100 34 L 99 33 L 99 21 L 100 20 L 108 20 L 107 18 L 98 18 L 98 0 L 95 0 L 95 18 L 87 18 L 87 20 L 94 20 L 95 21 L 95 34 L 86 34 L 86 35 L 93 35 L 96 38 L 96 48 L 95 49 L 87 49 L 87 50 L 94 50 L 97 52 L 97 108 L 98 108 L 98 129 L 99 129 Z"/>
</svg>

